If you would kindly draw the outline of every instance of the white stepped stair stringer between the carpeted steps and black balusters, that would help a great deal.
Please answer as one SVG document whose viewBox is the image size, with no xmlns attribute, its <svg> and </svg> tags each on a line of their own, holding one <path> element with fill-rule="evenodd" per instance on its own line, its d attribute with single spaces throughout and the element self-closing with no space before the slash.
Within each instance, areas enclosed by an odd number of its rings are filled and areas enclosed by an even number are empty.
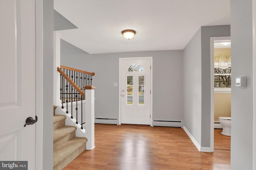
<svg viewBox="0 0 256 170">
<path fill-rule="evenodd" d="M 85 137 L 85 129 L 81 129 L 81 124 L 76 124 L 76 119 L 71 119 L 71 114 L 66 113 L 66 109 L 62 109 L 61 106 L 56 107 L 55 109 L 55 115 L 65 115 L 65 124 L 69 126 L 75 126 L 76 127 L 76 137 Z"/>
</svg>

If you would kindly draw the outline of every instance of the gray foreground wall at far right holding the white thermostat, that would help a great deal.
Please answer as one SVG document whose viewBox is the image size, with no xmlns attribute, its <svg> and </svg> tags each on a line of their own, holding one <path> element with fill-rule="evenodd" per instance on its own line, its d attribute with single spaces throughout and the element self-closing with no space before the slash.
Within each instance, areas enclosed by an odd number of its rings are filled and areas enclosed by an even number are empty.
<svg viewBox="0 0 256 170">
<path fill-rule="evenodd" d="M 252 170 L 256 160 L 253 154 L 255 142 L 253 132 L 255 129 L 254 112 L 255 101 L 255 35 L 253 35 L 254 0 L 231 0 L 231 62 L 232 62 L 232 94 L 231 94 L 231 169 Z M 255 25 L 254 25 L 255 26 Z M 254 40 L 253 40 L 254 38 Z M 253 50 L 254 49 L 254 50 Z M 246 76 L 246 88 L 235 86 L 235 78 Z M 255 162 L 254 162 L 255 165 Z"/>
</svg>

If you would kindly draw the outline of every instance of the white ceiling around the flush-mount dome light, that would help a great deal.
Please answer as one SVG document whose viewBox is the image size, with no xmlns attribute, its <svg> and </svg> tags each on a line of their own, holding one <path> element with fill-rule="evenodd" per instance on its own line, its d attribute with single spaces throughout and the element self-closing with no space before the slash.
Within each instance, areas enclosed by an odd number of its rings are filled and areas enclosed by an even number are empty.
<svg viewBox="0 0 256 170">
<path fill-rule="evenodd" d="M 78 27 L 61 38 L 90 54 L 184 49 L 200 26 L 230 24 L 230 0 L 54 0 L 54 9 Z"/>
</svg>

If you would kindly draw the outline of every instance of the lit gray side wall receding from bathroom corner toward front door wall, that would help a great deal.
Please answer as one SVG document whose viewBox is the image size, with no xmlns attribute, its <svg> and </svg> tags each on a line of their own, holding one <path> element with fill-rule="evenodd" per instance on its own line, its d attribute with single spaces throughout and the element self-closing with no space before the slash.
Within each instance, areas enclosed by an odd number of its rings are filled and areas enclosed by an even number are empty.
<svg viewBox="0 0 256 170">
<path fill-rule="evenodd" d="M 184 126 L 201 145 L 201 28 L 184 49 Z"/>
</svg>

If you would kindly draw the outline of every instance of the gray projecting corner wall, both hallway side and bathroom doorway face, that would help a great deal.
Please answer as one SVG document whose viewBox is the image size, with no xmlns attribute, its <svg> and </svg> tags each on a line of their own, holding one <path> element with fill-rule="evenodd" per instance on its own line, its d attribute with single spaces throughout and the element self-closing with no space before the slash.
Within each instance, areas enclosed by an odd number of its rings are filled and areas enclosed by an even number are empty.
<svg viewBox="0 0 256 170">
<path fill-rule="evenodd" d="M 210 147 L 210 37 L 230 36 L 230 25 L 201 27 L 184 49 L 184 125 L 201 147 Z"/>
</svg>

